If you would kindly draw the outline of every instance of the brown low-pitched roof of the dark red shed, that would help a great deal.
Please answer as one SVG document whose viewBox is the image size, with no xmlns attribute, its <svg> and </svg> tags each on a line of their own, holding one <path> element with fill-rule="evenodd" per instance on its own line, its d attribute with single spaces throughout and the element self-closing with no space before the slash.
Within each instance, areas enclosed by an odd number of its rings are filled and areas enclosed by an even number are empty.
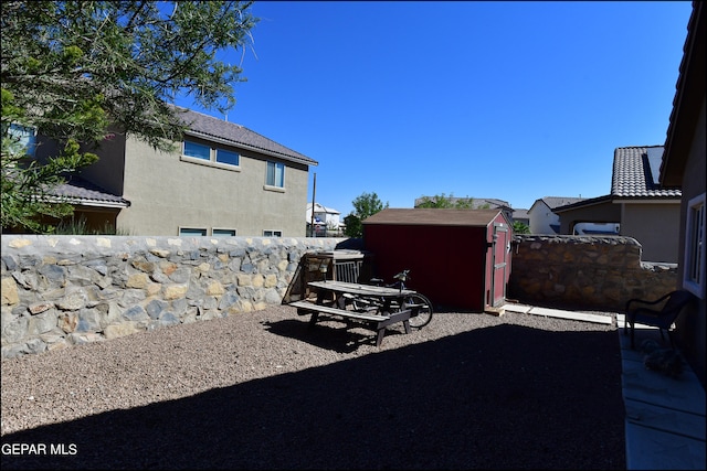
<svg viewBox="0 0 707 471">
<path fill-rule="evenodd" d="M 386 208 L 362 221 L 362 224 L 473 226 L 486 227 L 498 214 L 496 210 L 446 210 L 435 207 Z"/>
</svg>

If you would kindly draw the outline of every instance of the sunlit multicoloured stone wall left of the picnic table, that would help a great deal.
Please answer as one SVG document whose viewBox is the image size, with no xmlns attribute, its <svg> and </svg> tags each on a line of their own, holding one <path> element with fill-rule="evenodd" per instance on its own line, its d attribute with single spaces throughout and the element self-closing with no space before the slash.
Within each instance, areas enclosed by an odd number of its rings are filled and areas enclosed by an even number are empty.
<svg viewBox="0 0 707 471">
<path fill-rule="evenodd" d="M 2 357 L 278 304 L 337 238 L 2 236 Z"/>
</svg>

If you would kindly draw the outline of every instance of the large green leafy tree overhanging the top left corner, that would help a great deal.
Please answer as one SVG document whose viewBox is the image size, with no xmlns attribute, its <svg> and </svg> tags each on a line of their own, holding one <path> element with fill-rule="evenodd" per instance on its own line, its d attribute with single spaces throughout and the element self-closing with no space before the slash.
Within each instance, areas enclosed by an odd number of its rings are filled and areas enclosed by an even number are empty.
<svg viewBox="0 0 707 471">
<path fill-rule="evenodd" d="M 6 1 L 2 4 L 2 227 L 41 229 L 36 216 L 71 207 L 44 197 L 63 175 L 95 162 L 110 131 L 172 150 L 184 130 L 177 95 L 225 113 L 243 49 L 257 23 L 252 1 Z M 55 141 L 28 154 L 17 126 Z"/>
</svg>

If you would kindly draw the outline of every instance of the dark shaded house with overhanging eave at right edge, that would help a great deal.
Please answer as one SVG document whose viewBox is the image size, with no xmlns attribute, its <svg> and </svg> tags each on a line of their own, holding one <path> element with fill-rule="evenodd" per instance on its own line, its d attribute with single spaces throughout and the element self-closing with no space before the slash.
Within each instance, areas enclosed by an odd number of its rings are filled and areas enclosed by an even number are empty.
<svg viewBox="0 0 707 471">
<path fill-rule="evenodd" d="M 673 111 L 665 139 L 659 182 L 665 186 L 680 186 L 678 242 L 678 281 L 676 288 L 687 289 L 698 301 L 686 308 L 676 321 L 675 339 L 680 352 L 705 387 L 705 336 L 707 333 L 705 266 L 706 222 L 705 194 L 707 174 L 707 120 L 705 108 L 705 3 L 693 2 L 687 25 L 683 61 L 676 85 Z"/>
</svg>

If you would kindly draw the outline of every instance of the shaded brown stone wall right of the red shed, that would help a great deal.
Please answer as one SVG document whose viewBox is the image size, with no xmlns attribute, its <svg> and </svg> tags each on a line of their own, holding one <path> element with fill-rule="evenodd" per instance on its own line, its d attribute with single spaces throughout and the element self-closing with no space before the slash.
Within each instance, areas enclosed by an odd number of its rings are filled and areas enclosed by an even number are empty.
<svg viewBox="0 0 707 471">
<path fill-rule="evenodd" d="M 524 303 L 621 312 L 677 286 L 677 265 L 641 261 L 632 237 L 516 235 L 511 249 L 507 295 Z"/>
</svg>

